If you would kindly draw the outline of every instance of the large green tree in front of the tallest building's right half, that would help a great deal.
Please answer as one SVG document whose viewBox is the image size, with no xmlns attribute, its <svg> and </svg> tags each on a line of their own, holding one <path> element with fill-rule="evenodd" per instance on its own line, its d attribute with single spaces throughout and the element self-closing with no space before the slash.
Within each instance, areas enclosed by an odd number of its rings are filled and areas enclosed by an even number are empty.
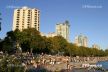
<svg viewBox="0 0 108 72">
<path fill-rule="evenodd" d="M 28 46 L 29 51 L 42 52 L 45 48 L 45 41 L 39 31 L 34 28 L 24 29 L 22 31 L 22 48 Z"/>
</svg>

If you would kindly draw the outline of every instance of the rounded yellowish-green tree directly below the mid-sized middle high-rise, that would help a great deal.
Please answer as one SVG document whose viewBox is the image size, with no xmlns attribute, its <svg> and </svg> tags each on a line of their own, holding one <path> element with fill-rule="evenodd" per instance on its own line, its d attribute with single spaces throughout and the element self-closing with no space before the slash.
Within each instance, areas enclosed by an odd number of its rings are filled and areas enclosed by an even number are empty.
<svg viewBox="0 0 108 72">
<path fill-rule="evenodd" d="M 54 54 L 65 53 L 68 42 L 62 36 L 55 36 L 51 39 L 51 52 Z"/>
</svg>

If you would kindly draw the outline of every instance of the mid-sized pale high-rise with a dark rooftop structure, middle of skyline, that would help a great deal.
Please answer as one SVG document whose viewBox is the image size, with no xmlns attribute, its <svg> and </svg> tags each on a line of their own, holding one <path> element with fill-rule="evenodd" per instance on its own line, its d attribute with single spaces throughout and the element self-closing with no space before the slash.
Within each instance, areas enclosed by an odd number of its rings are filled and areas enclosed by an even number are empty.
<svg viewBox="0 0 108 72">
<path fill-rule="evenodd" d="M 64 37 L 69 41 L 70 25 L 68 21 L 56 24 L 56 34 Z"/>
</svg>

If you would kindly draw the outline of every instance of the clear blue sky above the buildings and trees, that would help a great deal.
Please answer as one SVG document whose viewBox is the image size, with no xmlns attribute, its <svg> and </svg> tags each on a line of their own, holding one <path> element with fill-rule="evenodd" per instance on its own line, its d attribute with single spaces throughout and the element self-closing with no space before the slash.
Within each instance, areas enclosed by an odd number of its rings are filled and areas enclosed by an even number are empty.
<svg viewBox="0 0 108 72">
<path fill-rule="evenodd" d="M 2 30 L 0 38 L 12 30 L 13 11 L 28 6 L 40 10 L 40 31 L 55 32 L 56 23 L 70 22 L 70 40 L 80 33 L 88 37 L 89 47 L 96 43 L 108 48 L 108 0 L 0 0 Z"/>
</svg>

